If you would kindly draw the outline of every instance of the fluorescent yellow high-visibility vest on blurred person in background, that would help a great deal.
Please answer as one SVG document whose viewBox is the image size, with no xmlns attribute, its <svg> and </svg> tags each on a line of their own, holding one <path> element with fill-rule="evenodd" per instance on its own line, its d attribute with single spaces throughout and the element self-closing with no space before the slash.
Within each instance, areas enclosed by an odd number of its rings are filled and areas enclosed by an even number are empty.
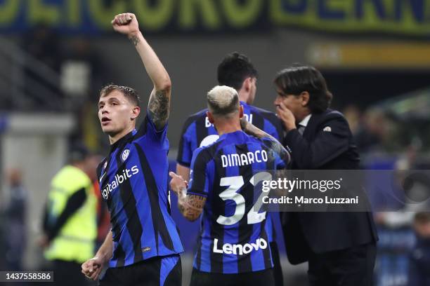
<svg viewBox="0 0 430 286">
<path fill-rule="evenodd" d="M 91 179 L 82 170 L 72 165 L 62 168 L 51 181 L 48 194 L 49 217 L 58 217 L 65 209 L 67 200 L 76 191 L 84 188 L 86 200 L 53 238 L 45 251 L 48 260 L 60 259 L 83 263 L 94 255 L 97 236 L 97 198 Z"/>
</svg>

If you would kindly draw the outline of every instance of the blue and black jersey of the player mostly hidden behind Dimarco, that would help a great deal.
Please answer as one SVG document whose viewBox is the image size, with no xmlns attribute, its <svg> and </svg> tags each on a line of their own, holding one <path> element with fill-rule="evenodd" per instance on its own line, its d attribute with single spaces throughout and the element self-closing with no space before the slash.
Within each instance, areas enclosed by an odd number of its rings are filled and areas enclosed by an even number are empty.
<svg viewBox="0 0 430 286">
<path fill-rule="evenodd" d="M 282 142 L 282 123 L 275 114 L 246 104 L 245 102 L 240 102 L 240 104 L 243 106 L 245 118 L 250 123 Z M 188 117 L 183 125 L 176 161 L 185 167 L 190 168 L 191 158 L 195 149 L 207 146 L 219 138 L 214 125 L 209 123 L 206 112 L 207 109 L 203 109 L 193 114 Z M 275 239 L 275 228 L 271 216 L 267 219 L 266 230 L 268 232 L 268 239 L 272 242 Z"/>
</svg>

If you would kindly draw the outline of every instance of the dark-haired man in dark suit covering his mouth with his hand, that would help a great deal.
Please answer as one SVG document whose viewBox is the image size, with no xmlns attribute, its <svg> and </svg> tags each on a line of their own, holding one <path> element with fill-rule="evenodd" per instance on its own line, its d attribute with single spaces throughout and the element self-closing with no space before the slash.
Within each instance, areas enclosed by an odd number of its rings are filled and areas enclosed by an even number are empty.
<svg viewBox="0 0 430 286">
<path fill-rule="evenodd" d="M 320 71 L 283 69 L 275 87 L 292 169 L 358 169 L 348 122 L 329 109 L 332 95 Z M 282 222 L 288 259 L 292 264 L 308 261 L 310 285 L 372 285 L 377 233 L 370 212 L 288 212 Z"/>
</svg>

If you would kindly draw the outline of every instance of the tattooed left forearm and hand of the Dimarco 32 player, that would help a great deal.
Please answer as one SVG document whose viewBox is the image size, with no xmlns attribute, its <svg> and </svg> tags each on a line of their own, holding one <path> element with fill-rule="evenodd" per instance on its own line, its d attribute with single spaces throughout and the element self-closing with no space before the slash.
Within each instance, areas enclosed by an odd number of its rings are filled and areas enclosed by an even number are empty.
<svg viewBox="0 0 430 286">
<path fill-rule="evenodd" d="M 202 213 L 206 197 L 187 194 L 187 182 L 174 172 L 169 172 L 171 177 L 170 189 L 178 196 L 178 209 L 190 222 L 194 222 Z"/>
</svg>

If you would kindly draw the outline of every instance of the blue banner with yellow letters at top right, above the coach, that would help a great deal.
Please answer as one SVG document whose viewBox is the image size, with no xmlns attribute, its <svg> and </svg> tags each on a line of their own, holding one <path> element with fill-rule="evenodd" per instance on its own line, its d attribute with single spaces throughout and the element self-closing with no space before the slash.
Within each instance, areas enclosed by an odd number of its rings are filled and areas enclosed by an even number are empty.
<svg viewBox="0 0 430 286">
<path fill-rule="evenodd" d="M 275 26 L 296 25 L 331 32 L 430 35 L 429 0 L 272 0 Z"/>
</svg>

